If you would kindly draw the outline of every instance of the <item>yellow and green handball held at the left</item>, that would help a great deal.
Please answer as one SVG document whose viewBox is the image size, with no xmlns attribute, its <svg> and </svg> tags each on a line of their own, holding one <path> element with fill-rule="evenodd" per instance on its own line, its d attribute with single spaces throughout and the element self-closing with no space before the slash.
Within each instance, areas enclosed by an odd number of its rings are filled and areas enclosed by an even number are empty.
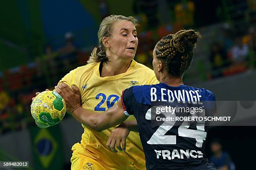
<svg viewBox="0 0 256 170">
<path fill-rule="evenodd" d="M 31 114 L 39 127 L 49 127 L 59 123 L 66 113 L 64 99 L 54 91 L 39 93 L 31 104 Z"/>
</svg>

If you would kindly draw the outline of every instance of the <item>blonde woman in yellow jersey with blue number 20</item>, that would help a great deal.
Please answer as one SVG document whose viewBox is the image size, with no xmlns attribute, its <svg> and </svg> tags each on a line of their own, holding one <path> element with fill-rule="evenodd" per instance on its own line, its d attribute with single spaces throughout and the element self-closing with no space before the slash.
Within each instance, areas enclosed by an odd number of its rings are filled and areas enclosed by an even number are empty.
<svg viewBox="0 0 256 170">
<path fill-rule="evenodd" d="M 60 82 L 70 87 L 79 87 L 84 109 L 103 113 L 118 101 L 126 88 L 159 83 L 153 70 L 133 60 L 138 45 L 136 25 L 137 21 L 133 17 L 111 15 L 103 19 L 98 31 L 100 52 L 95 48 L 89 64 L 72 70 L 61 79 Z M 120 126 L 132 130 L 136 125 L 133 117 Z M 72 147 L 72 170 L 146 169 L 138 133 L 129 133 L 125 152 L 113 153 L 106 143 L 114 128 L 97 132 L 84 125 L 82 127 L 84 133 L 81 143 Z"/>
</svg>

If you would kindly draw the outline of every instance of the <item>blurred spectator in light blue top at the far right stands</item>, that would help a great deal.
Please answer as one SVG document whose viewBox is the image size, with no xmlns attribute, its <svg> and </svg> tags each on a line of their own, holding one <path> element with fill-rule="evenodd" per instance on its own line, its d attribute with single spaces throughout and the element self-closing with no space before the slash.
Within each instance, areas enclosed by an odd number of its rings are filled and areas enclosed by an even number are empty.
<svg viewBox="0 0 256 170">
<path fill-rule="evenodd" d="M 241 38 L 236 38 L 235 45 L 231 49 L 232 60 L 234 62 L 244 62 L 248 56 L 248 53 L 248 45 L 243 44 Z"/>
</svg>

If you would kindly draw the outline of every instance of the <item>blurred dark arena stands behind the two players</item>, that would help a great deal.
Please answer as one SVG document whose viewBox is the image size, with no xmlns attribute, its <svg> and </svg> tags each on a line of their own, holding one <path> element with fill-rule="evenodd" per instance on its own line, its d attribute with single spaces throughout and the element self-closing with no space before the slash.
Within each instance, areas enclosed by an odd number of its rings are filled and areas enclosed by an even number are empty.
<svg viewBox="0 0 256 170">
<path fill-rule="evenodd" d="M 37 128 L 31 98 L 87 63 L 99 24 L 111 14 L 136 16 L 135 60 L 151 68 L 161 37 L 198 30 L 202 39 L 184 83 L 211 90 L 217 100 L 256 99 L 256 0 L 6 0 L 0 10 L 0 161 L 29 161 L 32 170 L 70 169 L 81 125 L 66 115 L 54 127 Z M 255 120 L 254 111 L 240 121 Z M 255 130 L 210 128 L 207 156 L 218 138 L 237 170 L 255 169 Z"/>
</svg>

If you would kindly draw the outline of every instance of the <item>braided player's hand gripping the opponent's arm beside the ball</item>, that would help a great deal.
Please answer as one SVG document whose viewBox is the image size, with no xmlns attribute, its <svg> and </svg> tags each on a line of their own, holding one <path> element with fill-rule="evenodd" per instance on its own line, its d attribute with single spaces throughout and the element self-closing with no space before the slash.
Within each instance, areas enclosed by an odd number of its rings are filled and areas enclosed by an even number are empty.
<svg viewBox="0 0 256 170">
<path fill-rule="evenodd" d="M 74 92 L 71 90 L 71 88 L 61 82 L 59 85 L 55 86 L 56 92 L 61 95 L 61 97 L 64 99 L 66 106 L 67 106 L 67 111 L 72 113 L 75 109 L 78 107 L 81 107 L 81 94 L 78 89 L 78 87 L 72 85 L 72 89 Z"/>
</svg>

